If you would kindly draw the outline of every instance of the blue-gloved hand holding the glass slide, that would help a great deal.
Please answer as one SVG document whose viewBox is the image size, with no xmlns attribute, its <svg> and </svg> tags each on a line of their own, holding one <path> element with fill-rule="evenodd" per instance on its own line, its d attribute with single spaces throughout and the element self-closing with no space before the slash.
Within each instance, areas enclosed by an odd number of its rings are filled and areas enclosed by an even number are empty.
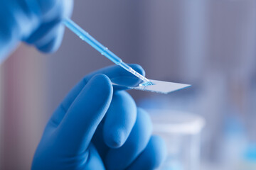
<svg viewBox="0 0 256 170">
<path fill-rule="evenodd" d="M 142 67 L 131 65 L 144 74 Z M 151 136 L 149 115 L 110 79 L 131 77 L 119 66 L 87 75 L 53 113 L 32 169 L 154 169 L 164 160 L 163 140 Z"/>
</svg>

